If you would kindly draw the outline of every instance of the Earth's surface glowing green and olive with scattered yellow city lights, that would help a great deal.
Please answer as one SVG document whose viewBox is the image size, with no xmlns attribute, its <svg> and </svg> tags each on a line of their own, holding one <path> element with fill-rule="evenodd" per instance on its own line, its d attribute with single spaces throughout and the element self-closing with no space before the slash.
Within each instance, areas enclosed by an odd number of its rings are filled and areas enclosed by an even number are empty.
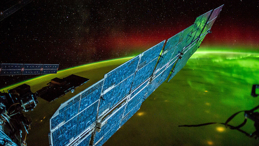
<svg viewBox="0 0 259 146">
<path fill-rule="evenodd" d="M 75 89 L 74 93 L 70 92 L 54 102 L 38 98 L 39 104 L 34 111 L 26 113 L 33 120 L 26 138 L 27 145 L 47 146 L 49 119 L 60 104 L 131 58 L 81 65 L 1 89 L 6 91 L 26 83 L 35 92 L 46 86 L 50 79 L 70 74 L 90 79 Z M 253 84 L 259 84 L 258 70 L 257 49 L 201 47 L 169 83 L 165 81 L 143 102 L 139 111 L 104 146 L 258 145 L 258 140 L 220 124 L 178 127 L 184 124 L 225 122 L 237 111 L 257 106 L 259 99 L 251 96 L 251 88 Z M 241 113 L 229 124 L 237 126 L 243 120 Z M 254 122 L 248 119 L 241 129 L 254 132 Z"/>
</svg>

